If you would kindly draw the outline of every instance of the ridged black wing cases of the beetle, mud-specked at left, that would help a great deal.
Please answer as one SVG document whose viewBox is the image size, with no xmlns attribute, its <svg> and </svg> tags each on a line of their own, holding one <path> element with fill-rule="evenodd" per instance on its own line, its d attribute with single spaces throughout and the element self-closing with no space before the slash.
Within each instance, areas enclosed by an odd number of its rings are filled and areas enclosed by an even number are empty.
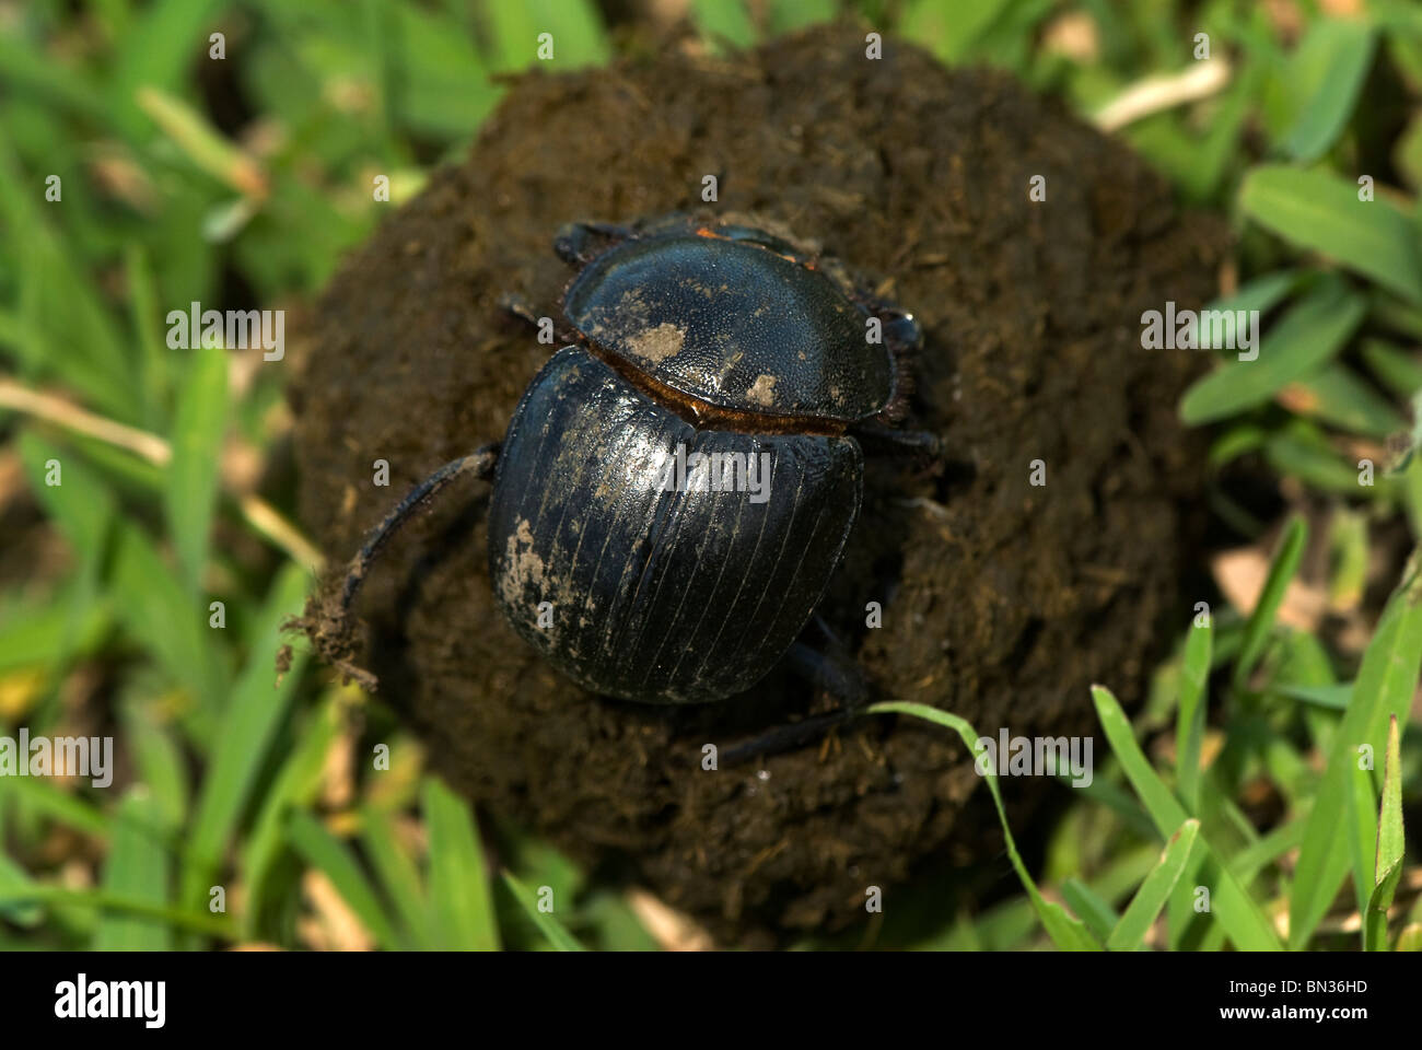
<svg viewBox="0 0 1422 1050">
<path fill-rule="evenodd" d="M 664 489 L 678 442 L 688 455 L 768 452 L 765 501 Z M 720 700 L 761 679 L 809 619 L 853 528 L 862 475 L 850 437 L 697 430 L 565 347 L 529 384 L 499 455 L 493 595 L 584 689 Z"/>
</svg>

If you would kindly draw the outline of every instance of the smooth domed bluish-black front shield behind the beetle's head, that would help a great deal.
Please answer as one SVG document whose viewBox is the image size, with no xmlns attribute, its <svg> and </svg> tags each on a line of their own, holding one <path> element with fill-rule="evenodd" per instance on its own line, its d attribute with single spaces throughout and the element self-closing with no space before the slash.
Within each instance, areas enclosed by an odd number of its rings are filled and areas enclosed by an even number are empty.
<svg viewBox="0 0 1422 1050">
<path fill-rule="evenodd" d="M 691 225 L 596 255 L 563 312 L 594 346 L 718 408 L 853 423 L 893 397 L 869 313 L 789 245 Z"/>
</svg>

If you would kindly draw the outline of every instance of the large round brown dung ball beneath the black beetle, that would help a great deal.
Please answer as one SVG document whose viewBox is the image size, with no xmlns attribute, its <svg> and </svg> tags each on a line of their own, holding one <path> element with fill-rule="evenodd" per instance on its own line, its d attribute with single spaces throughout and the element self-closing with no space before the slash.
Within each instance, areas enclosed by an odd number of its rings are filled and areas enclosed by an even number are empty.
<svg viewBox="0 0 1422 1050">
<path fill-rule="evenodd" d="M 1035 175 L 1045 202 L 1030 199 Z M 1139 317 L 1210 296 L 1223 228 L 1057 102 L 892 40 L 866 60 L 852 26 L 734 60 L 668 48 L 519 80 L 468 159 L 347 260 L 293 353 L 301 514 L 324 549 L 347 558 L 411 485 L 503 435 L 550 347 L 499 300 L 557 317 L 572 276 L 550 249 L 560 225 L 700 206 L 818 242 L 923 323 L 909 425 L 937 431 L 948 461 L 870 461 L 820 608 L 875 697 L 940 706 L 994 737 L 1092 733 L 1092 682 L 1139 697 L 1185 623 L 1202 455 L 1175 405 L 1203 364 L 1142 350 Z M 388 488 L 371 484 L 381 458 Z M 1030 484 L 1034 460 L 1045 487 Z M 483 484 L 462 482 L 391 543 L 361 606 L 360 662 L 468 797 L 721 943 L 843 929 L 867 886 L 892 911 L 893 888 L 926 865 L 1008 882 L 948 731 L 877 717 L 704 771 L 705 743 L 830 701 L 784 672 L 671 711 L 560 679 L 495 609 L 486 504 Z M 869 600 L 880 629 L 866 627 Z M 1062 794 L 1042 780 L 1004 790 L 1015 817 Z"/>
</svg>

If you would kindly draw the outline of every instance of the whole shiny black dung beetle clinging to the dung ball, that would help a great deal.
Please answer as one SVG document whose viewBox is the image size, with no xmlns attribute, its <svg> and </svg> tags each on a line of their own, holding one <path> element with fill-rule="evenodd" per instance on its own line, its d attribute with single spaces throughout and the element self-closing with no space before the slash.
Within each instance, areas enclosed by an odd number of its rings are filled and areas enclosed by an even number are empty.
<svg viewBox="0 0 1422 1050">
<path fill-rule="evenodd" d="M 555 249 L 577 267 L 567 346 L 501 445 L 441 467 L 370 534 L 336 637 L 394 531 L 472 474 L 493 482 L 495 600 L 579 686 L 708 703 L 791 652 L 852 691 L 796 637 L 855 526 L 865 454 L 936 455 L 933 435 L 896 427 L 921 344 L 913 316 L 749 221 L 580 222 Z M 356 670 L 348 640 L 317 643 Z"/>
</svg>

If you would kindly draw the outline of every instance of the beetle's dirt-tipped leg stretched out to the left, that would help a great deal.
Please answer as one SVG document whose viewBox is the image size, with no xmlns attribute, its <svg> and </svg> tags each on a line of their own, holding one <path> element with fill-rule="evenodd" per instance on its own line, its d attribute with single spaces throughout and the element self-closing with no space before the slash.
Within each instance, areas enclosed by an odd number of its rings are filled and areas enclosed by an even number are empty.
<svg viewBox="0 0 1422 1050">
<path fill-rule="evenodd" d="M 360 596 L 365 576 L 380 552 L 422 507 L 428 505 L 452 482 L 465 477 L 489 478 L 499 458 L 499 445 L 489 444 L 469 455 L 447 462 L 428 478 L 415 485 L 410 494 L 365 535 L 361 549 L 346 566 L 346 578 L 334 595 L 327 589 L 314 595 L 306 606 L 306 615 L 286 625 L 287 629 L 303 630 L 316 650 L 346 677 L 354 679 L 368 690 L 377 680 L 370 672 L 357 667 L 356 656 L 356 599 Z"/>
</svg>

